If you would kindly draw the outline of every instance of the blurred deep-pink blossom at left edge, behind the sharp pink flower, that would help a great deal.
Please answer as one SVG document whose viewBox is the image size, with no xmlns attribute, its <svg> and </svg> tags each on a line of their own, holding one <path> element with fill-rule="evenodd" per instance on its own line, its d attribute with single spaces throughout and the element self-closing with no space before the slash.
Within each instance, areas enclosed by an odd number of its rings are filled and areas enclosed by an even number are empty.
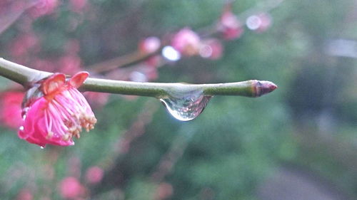
<svg viewBox="0 0 357 200">
<path fill-rule="evenodd" d="M 8 91 L 1 94 L 1 122 L 7 127 L 17 129 L 21 123 L 21 102 L 24 93 Z"/>
</svg>

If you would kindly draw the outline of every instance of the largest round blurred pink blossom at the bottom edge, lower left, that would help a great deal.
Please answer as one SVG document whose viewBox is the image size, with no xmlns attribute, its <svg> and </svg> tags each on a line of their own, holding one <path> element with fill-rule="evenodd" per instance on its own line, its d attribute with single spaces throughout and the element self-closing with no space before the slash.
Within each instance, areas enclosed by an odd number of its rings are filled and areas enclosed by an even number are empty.
<svg viewBox="0 0 357 200">
<path fill-rule="evenodd" d="M 64 199 L 77 199 L 86 193 L 78 179 L 66 177 L 59 183 L 59 194 Z"/>
</svg>

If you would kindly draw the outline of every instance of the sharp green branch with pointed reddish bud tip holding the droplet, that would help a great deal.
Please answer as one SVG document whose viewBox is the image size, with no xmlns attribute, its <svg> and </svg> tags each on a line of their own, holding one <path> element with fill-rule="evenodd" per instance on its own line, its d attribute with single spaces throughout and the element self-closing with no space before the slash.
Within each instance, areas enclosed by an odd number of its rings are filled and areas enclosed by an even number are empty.
<svg viewBox="0 0 357 200">
<path fill-rule="evenodd" d="M 52 73 L 28 68 L 24 65 L 12 63 L 0 58 L 0 75 L 16 83 L 28 87 Z M 108 80 L 88 78 L 79 88 L 82 91 L 100 93 L 116 93 L 122 95 L 139 95 L 155 98 L 168 98 L 172 95 L 182 95 L 192 92 L 202 92 L 203 95 L 239 95 L 246 97 L 259 97 L 270 93 L 277 87 L 274 83 L 265 80 L 246 80 L 236 83 L 217 84 L 183 84 L 183 83 L 138 83 L 123 80 Z"/>
</svg>

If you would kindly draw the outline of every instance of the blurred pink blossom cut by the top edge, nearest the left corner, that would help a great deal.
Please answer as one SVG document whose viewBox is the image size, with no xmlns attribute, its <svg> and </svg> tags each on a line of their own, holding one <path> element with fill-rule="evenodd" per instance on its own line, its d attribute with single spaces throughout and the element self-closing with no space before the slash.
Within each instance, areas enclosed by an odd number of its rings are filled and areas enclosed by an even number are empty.
<svg viewBox="0 0 357 200">
<path fill-rule="evenodd" d="M 30 14 L 36 19 L 40 16 L 53 14 L 58 6 L 58 0 L 38 0 L 36 6 L 30 10 Z"/>
</svg>

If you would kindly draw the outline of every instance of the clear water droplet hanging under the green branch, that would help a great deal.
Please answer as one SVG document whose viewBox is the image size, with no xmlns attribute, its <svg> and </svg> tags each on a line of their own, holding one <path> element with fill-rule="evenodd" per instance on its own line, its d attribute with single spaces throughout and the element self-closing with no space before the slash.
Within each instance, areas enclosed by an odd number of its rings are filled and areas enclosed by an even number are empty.
<svg viewBox="0 0 357 200">
<path fill-rule="evenodd" d="M 211 96 L 203 95 L 201 91 L 190 91 L 161 98 L 160 101 L 177 120 L 189 121 L 201 114 L 210 99 Z"/>
</svg>

